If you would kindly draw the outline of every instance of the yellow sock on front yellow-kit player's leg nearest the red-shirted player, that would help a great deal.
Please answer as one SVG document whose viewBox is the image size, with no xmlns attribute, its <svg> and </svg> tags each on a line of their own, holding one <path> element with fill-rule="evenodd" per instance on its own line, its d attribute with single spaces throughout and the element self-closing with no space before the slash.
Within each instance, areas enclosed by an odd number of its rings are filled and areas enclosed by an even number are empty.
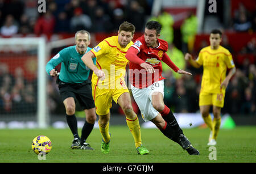
<svg viewBox="0 0 256 174">
<path fill-rule="evenodd" d="M 139 126 L 139 119 L 136 117 L 134 120 L 126 118 L 127 125 L 133 134 L 136 148 L 141 146 L 141 126 Z"/>
</svg>

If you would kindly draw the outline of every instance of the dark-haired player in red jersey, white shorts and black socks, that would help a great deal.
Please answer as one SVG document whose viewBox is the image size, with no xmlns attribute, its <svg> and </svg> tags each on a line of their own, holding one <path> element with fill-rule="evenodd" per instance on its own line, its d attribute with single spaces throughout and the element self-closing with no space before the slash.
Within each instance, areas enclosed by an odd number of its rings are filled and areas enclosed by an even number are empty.
<svg viewBox="0 0 256 174">
<path fill-rule="evenodd" d="M 147 22 L 144 35 L 139 37 L 126 53 L 126 58 L 130 61 L 131 92 L 144 121 L 152 121 L 166 137 L 187 150 L 189 155 L 199 155 L 199 151 L 185 137 L 174 114 L 163 101 L 164 78 L 161 61 L 176 73 L 192 74 L 179 69 L 168 57 L 167 41 L 158 38 L 161 28 L 161 24 L 156 21 Z"/>
</svg>

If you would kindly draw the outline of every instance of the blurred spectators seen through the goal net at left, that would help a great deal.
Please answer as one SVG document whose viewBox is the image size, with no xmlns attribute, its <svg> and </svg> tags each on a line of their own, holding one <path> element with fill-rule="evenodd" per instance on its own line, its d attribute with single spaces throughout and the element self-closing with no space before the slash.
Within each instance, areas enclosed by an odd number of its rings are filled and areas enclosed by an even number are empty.
<svg viewBox="0 0 256 174">
<path fill-rule="evenodd" d="M 35 114 L 37 107 L 36 80 L 28 81 L 21 67 L 14 74 L 0 62 L 0 114 Z"/>
</svg>

